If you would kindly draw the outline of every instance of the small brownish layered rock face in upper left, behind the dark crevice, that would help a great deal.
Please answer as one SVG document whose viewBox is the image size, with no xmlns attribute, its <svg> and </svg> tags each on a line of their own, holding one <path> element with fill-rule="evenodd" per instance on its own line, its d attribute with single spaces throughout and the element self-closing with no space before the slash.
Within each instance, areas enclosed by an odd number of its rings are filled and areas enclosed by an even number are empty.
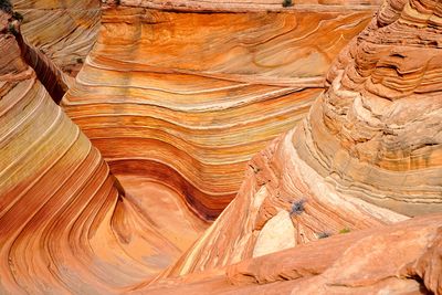
<svg viewBox="0 0 442 295">
<path fill-rule="evenodd" d="M 64 73 L 75 76 L 95 43 L 99 0 L 11 0 L 23 14 L 27 43 L 41 50 Z"/>
</svg>

